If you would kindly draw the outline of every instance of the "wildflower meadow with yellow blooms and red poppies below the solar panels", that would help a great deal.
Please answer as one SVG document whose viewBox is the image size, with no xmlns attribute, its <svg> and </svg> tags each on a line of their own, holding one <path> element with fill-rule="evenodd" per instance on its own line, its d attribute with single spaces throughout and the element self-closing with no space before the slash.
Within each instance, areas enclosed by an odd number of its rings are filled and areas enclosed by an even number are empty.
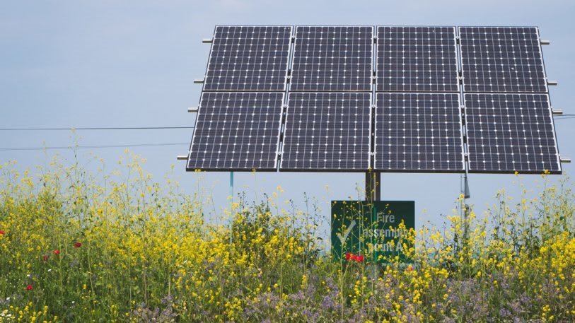
<svg viewBox="0 0 575 323">
<path fill-rule="evenodd" d="M 142 163 L 0 166 L 0 322 L 575 322 L 567 177 L 410 230 L 412 262 L 376 265 L 335 259 L 317 232 L 330 220 L 282 208 L 281 188 L 239 194 L 230 230 Z"/>
</svg>

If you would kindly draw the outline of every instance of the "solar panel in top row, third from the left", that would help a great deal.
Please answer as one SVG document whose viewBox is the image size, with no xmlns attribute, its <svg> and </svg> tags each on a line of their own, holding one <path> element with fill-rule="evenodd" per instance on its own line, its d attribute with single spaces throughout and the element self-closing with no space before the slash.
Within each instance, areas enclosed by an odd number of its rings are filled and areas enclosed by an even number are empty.
<svg viewBox="0 0 575 323">
<path fill-rule="evenodd" d="M 378 27 L 379 92 L 458 92 L 455 27 Z"/>
</svg>

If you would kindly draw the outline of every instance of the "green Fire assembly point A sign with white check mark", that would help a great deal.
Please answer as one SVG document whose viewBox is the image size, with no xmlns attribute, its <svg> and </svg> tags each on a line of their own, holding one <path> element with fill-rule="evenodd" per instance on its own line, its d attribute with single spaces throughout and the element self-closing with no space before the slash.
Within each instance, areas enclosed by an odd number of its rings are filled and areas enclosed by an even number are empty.
<svg viewBox="0 0 575 323">
<path fill-rule="evenodd" d="M 332 201 L 332 256 L 389 263 L 410 262 L 405 247 L 415 229 L 414 201 Z M 361 256 L 361 257 L 360 257 Z"/>
</svg>

